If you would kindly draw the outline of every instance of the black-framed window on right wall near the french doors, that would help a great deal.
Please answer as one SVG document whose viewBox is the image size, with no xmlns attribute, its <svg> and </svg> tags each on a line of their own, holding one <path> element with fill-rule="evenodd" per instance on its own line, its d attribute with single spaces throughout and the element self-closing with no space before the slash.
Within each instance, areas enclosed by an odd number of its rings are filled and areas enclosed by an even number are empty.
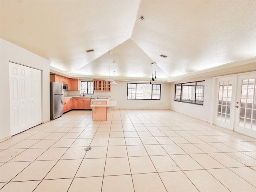
<svg viewBox="0 0 256 192">
<path fill-rule="evenodd" d="M 175 85 L 175 101 L 204 104 L 204 81 Z"/>
</svg>

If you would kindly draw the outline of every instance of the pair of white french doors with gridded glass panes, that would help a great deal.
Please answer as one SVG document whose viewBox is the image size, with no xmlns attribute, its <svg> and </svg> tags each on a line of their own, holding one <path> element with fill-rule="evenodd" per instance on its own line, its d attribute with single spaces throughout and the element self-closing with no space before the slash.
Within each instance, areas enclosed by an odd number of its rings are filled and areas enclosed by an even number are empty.
<svg viewBox="0 0 256 192">
<path fill-rule="evenodd" d="M 215 80 L 214 124 L 256 138 L 256 72 Z"/>
</svg>

